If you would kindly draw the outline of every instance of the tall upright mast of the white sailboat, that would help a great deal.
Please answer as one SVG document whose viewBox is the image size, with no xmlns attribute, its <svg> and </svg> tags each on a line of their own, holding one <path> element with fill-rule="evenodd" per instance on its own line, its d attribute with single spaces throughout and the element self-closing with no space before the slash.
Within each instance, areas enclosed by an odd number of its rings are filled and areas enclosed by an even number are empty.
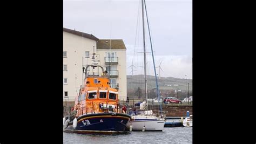
<svg viewBox="0 0 256 144">
<path fill-rule="evenodd" d="M 144 50 L 144 78 L 145 78 L 145 93 L 146 93 L 146 105 L 147 105 L 146 43 L 145 43 L 144 2 L 143 2 L 143 0 L 142 0 L 142 26 L 143 26 L 143 50 Z"/>
</svg>

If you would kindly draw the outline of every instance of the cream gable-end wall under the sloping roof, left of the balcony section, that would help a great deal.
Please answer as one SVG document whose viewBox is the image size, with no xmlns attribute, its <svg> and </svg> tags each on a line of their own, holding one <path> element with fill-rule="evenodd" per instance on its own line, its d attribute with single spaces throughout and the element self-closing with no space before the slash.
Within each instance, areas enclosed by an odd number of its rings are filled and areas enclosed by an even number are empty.
<svg viewBox="0 0 256 144">
<path fill-rule="evenodd" d="M 93 46 L 96 49 L 96 40 L 63 31 L 63 51 L 66 51 L 67 55 L 63 58 L 63 65 L 67 65 L 68 69 L 68 71 L 63 71 L 63 78 L 68 78 L 68 84 L 63 84 L 64 101 L 75 100 L 79 87 L 83 84 L 82 59 L 85 57 L 85 51 L 90 51 L 90 54 L 93 52 Z M 64 97 L 65 91 L 68 91 L 68 98 Z"/>
</svg>

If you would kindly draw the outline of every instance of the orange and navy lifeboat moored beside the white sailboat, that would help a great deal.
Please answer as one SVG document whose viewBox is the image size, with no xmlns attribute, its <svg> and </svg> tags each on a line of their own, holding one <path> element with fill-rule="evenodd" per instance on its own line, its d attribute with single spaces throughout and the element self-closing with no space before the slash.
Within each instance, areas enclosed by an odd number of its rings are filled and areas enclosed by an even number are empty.
<svg viewBox="0 0 256 144">
<path fill-rule="evenodd" d="M 107 72 L 98 65 L 95 53 L 92 59 L 92 65 L 83 67 L 84 87 L 80 87 L 73 111 L 63 118 L 64 132 L 123 133 L 131 116 L 120 111 L 118 92 L 110 87 Z"/>
</svg>

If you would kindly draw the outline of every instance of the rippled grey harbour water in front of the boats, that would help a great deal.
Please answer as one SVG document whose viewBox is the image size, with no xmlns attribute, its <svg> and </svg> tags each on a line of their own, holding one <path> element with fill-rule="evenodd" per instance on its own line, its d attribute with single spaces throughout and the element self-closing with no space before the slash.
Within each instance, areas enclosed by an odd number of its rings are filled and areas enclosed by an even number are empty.
<svg viewBox="0 0 256 144">
<path fill-rule="evenodd" d="M 163 132 L 125 134 L 63 133 L 63 143 L 192 143 L 192 127 L 165 127 Z"/>
</svg>

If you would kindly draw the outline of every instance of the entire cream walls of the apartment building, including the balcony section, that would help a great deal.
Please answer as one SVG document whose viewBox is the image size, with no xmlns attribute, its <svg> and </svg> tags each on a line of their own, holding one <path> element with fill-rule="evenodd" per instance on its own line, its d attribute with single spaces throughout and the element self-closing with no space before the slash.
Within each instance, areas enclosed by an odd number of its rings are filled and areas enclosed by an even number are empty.
<svg viewBox="0 0 256 144">
<path fill-rule="evenodd" d="M 91 64 L 93 46 L 95 46 L 97 58 L 100 60 L 99 65 L 106 66 L 106 52 L 110 52 L 110 50 L 97 50 L 96 40 L 63 31 L 63 51 L 66 51 L 67 55 L 67 57 L 63 57 L 63 65 L 67 65 L 67 71 L 63 71 L 63 78 L 68 78 L 67 84 L 64 84 L 63 80 L 63 101 L 75 101 L 79 87 L 80 85 L 83 85 L 83 64 Z M 85 51 L 89 51 L 90 58 L 85 58 Z M 119 84 L 119 99 L 126 100 L 126 50 L 122 49 L 111 51 L 116 52 L 118 57 L 118 64 L 113 65 L 117 65 L 118 70 L 116 83 Z M 64 97 L 65 91 L 68 92 L 68 97 Z"/>
</svg>

